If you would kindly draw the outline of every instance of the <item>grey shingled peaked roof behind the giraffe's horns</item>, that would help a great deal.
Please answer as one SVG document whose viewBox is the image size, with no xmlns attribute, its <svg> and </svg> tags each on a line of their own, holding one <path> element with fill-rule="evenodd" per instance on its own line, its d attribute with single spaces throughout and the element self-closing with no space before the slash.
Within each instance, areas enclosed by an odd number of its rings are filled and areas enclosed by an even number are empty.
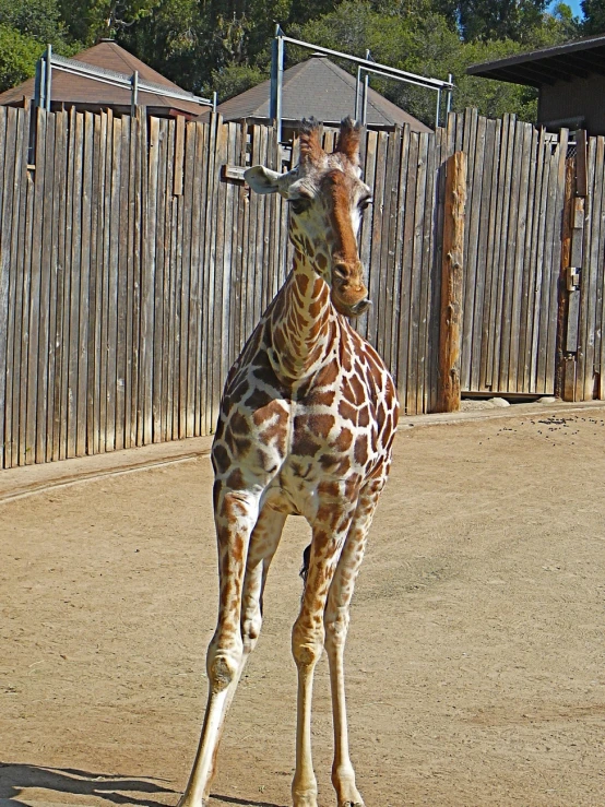
<svg viewBox="0 0 605 807">
<path fill-rule="evenodd" d="M 323 123 L 339 124 L 355 111 L 355 76 L 325 57 L 313 56 L 285 70 L 282 86 L 283 120 L 296 121 L 312 116 Z M 264 81 L 221 104 L 217 111 L 224 120 L 268 119 L 270 90 L 271 82 Z M 390 128 L 408 123 L 414 131 L 431 131 L 371 87 L 368 93 L 367 123 Z"/>
</svg>

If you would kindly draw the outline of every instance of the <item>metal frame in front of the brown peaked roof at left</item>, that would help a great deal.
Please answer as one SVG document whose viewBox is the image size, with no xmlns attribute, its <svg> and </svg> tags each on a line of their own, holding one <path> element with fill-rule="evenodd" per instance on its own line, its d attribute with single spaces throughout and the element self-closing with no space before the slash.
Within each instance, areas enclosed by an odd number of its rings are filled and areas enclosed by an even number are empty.
<svg viewBox="0 0 605 807">
<path fill-rule="evenodd" d="M 104 68 L 95 68 L 85 62 L 76 61 L 75 59 L 66 59 L 62 56 L 55 56 L 50 45 L 48 45 L 44 56 L 40 57 L 36 66 L 36 84 L 34 91 L 34 103 L 36 106 L 43 107 L 47 111 L 50 110 L 52 70 L 60 70 L 64 73 L 71 73 L 72 75 L 83 75 L 87 79 L 93 79 L 93 81 L 99 81 L 103 84 L 111 84 L 112 86 L 129 88 L 131 92 L 132 115 L 135 112 L 140 92 L 154 93 L 155 95 L 162 95 L 165 98 L 189 100 L 193 104 L 204 104 L 205 106 L 212 106 L 213 111 L 216 111 L 216 93 L 214 93 L 213 99 L 210 100 L 210 98 L 202 98 L 198 95 L 193 95 L 193 93 L 188 93 L 185 90 L 173 90 L 163 84 L 156 84 L 155 82 L 141 81 L 139 78 L 139 71 L 137 70 L 132 75 L 127 75 L 126 73 L 117 73 L 112 70 L 105 70 Z"/>
</svg>

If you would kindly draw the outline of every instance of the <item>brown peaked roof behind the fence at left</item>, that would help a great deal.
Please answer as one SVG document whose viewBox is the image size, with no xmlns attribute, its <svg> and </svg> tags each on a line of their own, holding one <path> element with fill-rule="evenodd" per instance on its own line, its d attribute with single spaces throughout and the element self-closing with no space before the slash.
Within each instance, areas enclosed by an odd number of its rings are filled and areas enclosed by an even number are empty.
<svg viewBox="0 0 605 807">
<path fill-rule="evenodd" d="M 112 40 L 102 40 L 98 45 L 78 54 L 73 61 L 120 73 L 128 79 L 137 71 L 141 81 L 158 84 L 180 93 L 185 92 Z M 0 105 L 21 106 L 24 97 L 34 97 L 34 87 L 35 80 L 27 79 L 22 84 L 1 93 Z M 60 70 L 52 71 L 51 108 L 76 106 L 80 109 L 94 110 L 112 107 L 116 111 L 130 111 L 130 103 L 131 92 L 128 87 L 116 86 L 87 75 L 74 75 Z M 138 103 L 146 106 L 150 114 L 161 116 L 197 117 L 209 109 L 207 106 L 197 102 L 193 95 L 191 95 L 191 100 L 188 100 L 169 98 L 142 90 L 139 91 Z"/>
</svg>

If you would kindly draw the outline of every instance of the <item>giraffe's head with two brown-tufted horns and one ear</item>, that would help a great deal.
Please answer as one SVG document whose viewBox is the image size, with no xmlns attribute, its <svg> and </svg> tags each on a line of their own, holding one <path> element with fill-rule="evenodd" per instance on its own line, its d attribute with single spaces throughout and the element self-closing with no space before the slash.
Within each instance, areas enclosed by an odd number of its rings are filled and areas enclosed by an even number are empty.
<svg viewBox="0 0 605 807">
<path fill-rule="evenodd" d="M 277 174 L 257 165 L 245 177 L 257 193 L 280 193 L 289 203 L 290 239 L 330 286 L 335 309 L 347 317 L 363 313 L 370 300 L 357 233 L 371 191 L 361 180 L 359 126 L 343 120 L 336 147 L 328 154 L 319 123 L 302 121 L 296 168 Z"/>
</svg>

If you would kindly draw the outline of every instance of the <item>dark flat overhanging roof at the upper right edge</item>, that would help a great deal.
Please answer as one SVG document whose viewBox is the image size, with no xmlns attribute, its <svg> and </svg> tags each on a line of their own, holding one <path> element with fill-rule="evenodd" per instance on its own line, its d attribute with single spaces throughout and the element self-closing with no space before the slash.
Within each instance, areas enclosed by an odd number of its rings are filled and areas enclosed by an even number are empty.
<svg viewBox="0 0 605 807">
<path fill-rule="evenodd" d="M 590 36 L 565 45 L 555 45 L 508 59 L 472 64 L 466 69 L 468 75 L 497 79 L 513 84 L 555 84 L 557 81 L 571 81 L 586 78 L 591 73 L 605 74 L 605 36 Z"/>
</svg>

